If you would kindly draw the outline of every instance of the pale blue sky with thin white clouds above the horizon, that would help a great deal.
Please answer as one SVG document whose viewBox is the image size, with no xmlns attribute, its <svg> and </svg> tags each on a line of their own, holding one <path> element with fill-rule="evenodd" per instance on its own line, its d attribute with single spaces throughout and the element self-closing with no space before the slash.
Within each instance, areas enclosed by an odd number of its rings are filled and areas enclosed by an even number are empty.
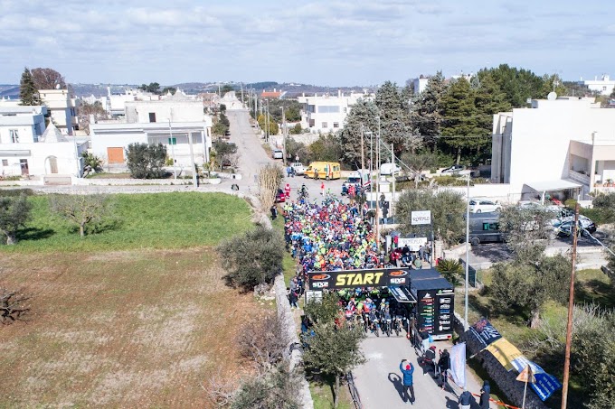
<svg viewBox="0 0 615 409">
<path fill-rule="evenodd" d="M 0 83 L 349 87 L 501 63 L 615 77 L 610 0 L 0 0 Z"/>
</svg>

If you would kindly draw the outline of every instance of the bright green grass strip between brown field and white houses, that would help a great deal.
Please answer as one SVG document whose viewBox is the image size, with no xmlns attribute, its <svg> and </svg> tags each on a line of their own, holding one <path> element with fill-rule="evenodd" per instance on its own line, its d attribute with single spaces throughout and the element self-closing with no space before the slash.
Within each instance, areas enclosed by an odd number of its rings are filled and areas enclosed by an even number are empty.
<svg viewBox="0 0 615 409">
<path fill-rule="evenodd" d="M 16 246 L 0 252 L 66 252 L 214 246 L 250 227 L 251 210 L 223 193 L 171 192 L 113 195 L 113 218 L 84 239 L 68 222 L 52 215 L 45 196 L 29 198 L 33 218 Z"/>
</svg>

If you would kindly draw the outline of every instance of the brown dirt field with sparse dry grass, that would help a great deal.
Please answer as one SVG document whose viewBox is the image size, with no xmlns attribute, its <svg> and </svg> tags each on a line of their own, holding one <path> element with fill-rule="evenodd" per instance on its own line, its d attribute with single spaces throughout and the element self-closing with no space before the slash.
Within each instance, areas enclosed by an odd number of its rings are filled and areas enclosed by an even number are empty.
<svg viewBox="0 0 615 409">
<path fill-rule="evenodd" d="M 209 247 L 1 257 L 34 298 L 0 327 L 0 407 L 207 407 L 204 379 L 248 370 L 232 340 L 265 307 Z"/>
</svg>

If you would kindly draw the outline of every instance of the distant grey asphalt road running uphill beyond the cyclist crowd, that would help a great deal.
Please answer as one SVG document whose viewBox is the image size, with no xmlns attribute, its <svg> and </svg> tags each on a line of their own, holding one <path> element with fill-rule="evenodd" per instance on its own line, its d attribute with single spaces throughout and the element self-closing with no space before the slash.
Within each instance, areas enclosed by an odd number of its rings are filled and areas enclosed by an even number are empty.
<svg viewBox="0 0 615 409">
<path fill-rule="evenodd" d="M 241 180 L 232 181 L 224 180 L 222 183 L 227 184 L 229 189 L 232 183 L 237 183 L 240 187 L 240 191 L 249 191 L 256 193 L 258 191 L 255 177 L 259 174 L 260 168 L 267 163 L 279 163 L 282 166 L 282 161 L 279 159 L 272 159 L 263 148 L 264 140 L 256 133 L 256 128 L 253 128 L 250 124 L 250 113 L 247 109 L 241 110 L 228 110 L 226 115 L 231 123 L 231 139 L 230 141 L 237 144 L 237 152 L 240 155 L 239 172 L 241 173 Z M 307 167 L 307 163 L 304 163 Z M 302 176 L 296 176 L 294 178 L 285 177 L 282 181 L 282 187 L 286 183 L 290 184 L 290 198 L 297 199 L 297 191 L 300 189 L 301 184 L 305 183 L 307 191 L 309 192 L 310 200 L 320 198 L 320 184 L 323 181 L 314 181 L 312 179 L 303 178 Z M 336 196 L 340 196 L 342 191 L 342 181 L 324 181 L 326 189 L 331 189 L 331 192 Z"/>
</svg>

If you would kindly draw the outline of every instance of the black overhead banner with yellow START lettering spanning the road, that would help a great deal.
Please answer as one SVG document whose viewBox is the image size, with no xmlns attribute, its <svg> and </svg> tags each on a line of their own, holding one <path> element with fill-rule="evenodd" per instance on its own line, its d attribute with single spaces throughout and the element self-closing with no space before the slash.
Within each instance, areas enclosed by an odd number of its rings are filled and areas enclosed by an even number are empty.
<svg viewBox="0 0 615 409">
<path fill-rule="evenodd" d="M 370 270 L 317 271 L 307 274 L 309 290 L 338 290 L 355 287 L 390 287 L 410 285 L 408 268 L 374 268 Z"/>
</svg>

